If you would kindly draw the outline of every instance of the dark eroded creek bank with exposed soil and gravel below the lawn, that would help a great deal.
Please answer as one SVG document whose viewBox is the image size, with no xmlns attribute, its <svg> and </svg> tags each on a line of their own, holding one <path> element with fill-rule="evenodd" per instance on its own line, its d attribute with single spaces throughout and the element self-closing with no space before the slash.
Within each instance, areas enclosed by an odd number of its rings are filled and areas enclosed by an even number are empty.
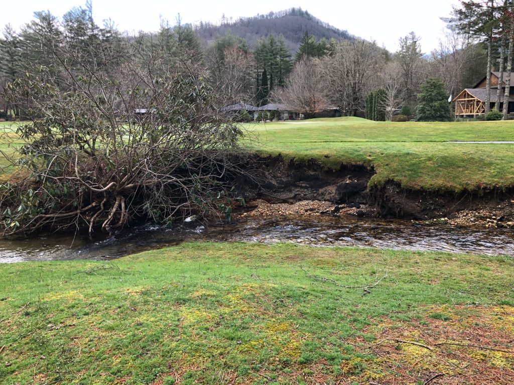
<svg viewBox="0 0 514 385">
<path fill-rule="evenodd" d="M 248 215 L 355 215 L 436 220 L 453 225 L 514 228 L 514 189 L 428 191 L 389 182 L 369 187 L 373 168 L 344 165 L 323 169 L 282 157 L 247 161 L 255 180 L 239 180 L 241 194 L 255 207 Z"/>
</svg>

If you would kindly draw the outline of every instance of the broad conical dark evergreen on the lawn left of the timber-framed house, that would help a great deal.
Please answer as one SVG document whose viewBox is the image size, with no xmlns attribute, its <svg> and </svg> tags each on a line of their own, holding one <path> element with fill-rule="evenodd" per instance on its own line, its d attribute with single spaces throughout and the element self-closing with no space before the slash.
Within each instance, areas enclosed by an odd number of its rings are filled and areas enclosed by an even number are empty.
<svg viewBox="0 0 514 385">
<path fill-rule="evenodd" d="M 451 111 L 445 85 L 440 79 L 428 79 L 418 94 L 416 107 L 418 122 L 450 122 Z"/>
</svg>

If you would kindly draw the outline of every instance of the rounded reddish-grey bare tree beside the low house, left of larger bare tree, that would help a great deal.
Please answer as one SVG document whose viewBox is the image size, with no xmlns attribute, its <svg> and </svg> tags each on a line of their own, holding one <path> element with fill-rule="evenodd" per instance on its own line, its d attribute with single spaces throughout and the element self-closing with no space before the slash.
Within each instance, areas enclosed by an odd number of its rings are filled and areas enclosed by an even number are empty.
<svg viewBox="0 0 514 385">
<path fill-rule="evenodd" d="M 273 95 L 293 111 L 314 118 L 329 107 L 323 70 L 318 59 L 304 58 L 293 68 L 285 88 Z"/>
</svg>

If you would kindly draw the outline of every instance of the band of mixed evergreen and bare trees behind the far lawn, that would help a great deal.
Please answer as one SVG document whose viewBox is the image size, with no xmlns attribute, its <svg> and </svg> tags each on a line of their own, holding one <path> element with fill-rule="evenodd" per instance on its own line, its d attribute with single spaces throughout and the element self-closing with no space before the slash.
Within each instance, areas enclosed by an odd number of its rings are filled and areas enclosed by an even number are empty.
<svg viewBox="0 0 514 385">
<path fill-rule="evenodd" d="M 179 18 L 174 25 L 162 20 L 157 32 L 140 32 L 136 36 L 118 31 L 112 22 L 95 29 L 89 5 L 89 8 L 70 10 L 62 20 L 48 12 L 36 12 L 34 20 L 19 32 L 7 25 L 0 39 L 0 76 L 4 83 L 9 83 L 34 63 L 46 65 L 45 51 L 61 34 L 77 42 L 95 36 L 104 43 L 109 42 L 114 50 L 120 49 L 122 42 L 134 42 L 141 50 L 148 51 L 159 44 L 177 56 L 187 51 L 203 65 L 209 84 L 224 95 L 226 104 L 284 102 L 306 116 L 326 106 L 335 106 L 344 114 L 355 115 L 365 113 L 366 97 L 380 89 L 384 95 L 380 104 L 386 111 L 386 119 L 391 119 L 400 108 L 409 115 L 414 113 L 420 87 L 430 78 L 442 80 L 449 97 L 487 75 L 490 100 L 487 69 L 495 64 L 500 78 L 510 80 L 511 9 L 509 0 L 462 1 L 446 19 L 450 29 L 445 38 L 430 53 L 422 51 L 423 39 L 414 32 L 399 38 L 397 52 L 389 52 L 360 38 L 318 39 L 308 31 L 304 32 L 298 49 L 291 52 L 280 33 L 268 33 L 250 44 L 228 31 L 209 43 L 202 43 L 199 31 L 205 26 L 182 25 Z M 291 9 L 236 23 L 225 22 L 225 25 L 285 16 L 321 23 L 306 11 Z M 49 36 L 47 41 L 43 36 Z M 307 79 L 307 73 L 313 79 Z M 294 80 L 316 82 L 316 86 L 295 85 Z M 311 95 L 299 95 L 301 89 L 309 89 Z M 299 103 L 300 99 L 310 99 L 313 103 L 310 106 Z M 15 106 L 6 105 L 5 101 L 3 104 L 4 110 L 14 115 L 20 113 Z"/>
</svg>

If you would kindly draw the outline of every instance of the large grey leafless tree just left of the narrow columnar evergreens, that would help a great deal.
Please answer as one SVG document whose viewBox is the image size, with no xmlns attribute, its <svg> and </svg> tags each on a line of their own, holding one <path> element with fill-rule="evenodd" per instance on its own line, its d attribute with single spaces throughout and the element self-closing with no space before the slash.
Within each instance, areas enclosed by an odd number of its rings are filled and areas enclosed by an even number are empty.
<svg viewBox="0 0 514 385">
<path fill-rule="evenodd" d="M 353 116 L 363 107 L 368 84 L 382 63 L 383 55 L 375 44 L 360 39 L 341 42 L 323 60 L 330 101 Z"/>
</svg>

